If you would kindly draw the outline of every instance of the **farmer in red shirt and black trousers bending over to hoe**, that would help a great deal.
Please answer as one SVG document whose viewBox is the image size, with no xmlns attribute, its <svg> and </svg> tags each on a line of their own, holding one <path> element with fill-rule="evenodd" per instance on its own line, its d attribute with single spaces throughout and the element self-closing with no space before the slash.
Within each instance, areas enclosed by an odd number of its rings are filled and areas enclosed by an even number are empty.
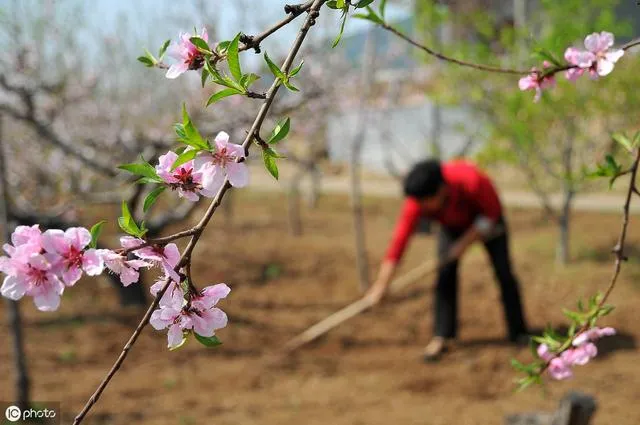
<svg viewBox="0 0 640 425">
<path fill-rule="evenodd" d="M 502 292 L 502 306 L 511 342 L 526 343 L 518 281 L 511 270 L 506 220 L 498 194 L 489 179 L 464 161 L 418 163 L 404 180 L 405 200 L 376 282 L 367 292 L 374 303 L 384 297 L 389 283 L 421 216 L 440 223 L 438 257 L 445 264 L 438 272 L 434 309 L 434 337 L 425 360 L 433 360 L 456 337 L 458 327 L 458 260 L 466 249 L 482 240 Z"/>
</svg>

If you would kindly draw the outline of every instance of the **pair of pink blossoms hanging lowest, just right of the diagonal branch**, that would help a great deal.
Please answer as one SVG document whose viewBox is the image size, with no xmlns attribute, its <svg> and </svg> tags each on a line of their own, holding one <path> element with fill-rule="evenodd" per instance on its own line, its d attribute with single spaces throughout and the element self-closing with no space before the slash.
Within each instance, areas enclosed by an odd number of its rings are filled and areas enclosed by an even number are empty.
<svg viewBox="0 0 640 425">
<path fill-rule="evenodd" d="M 158 285 L 156 294 L 160 289 L 159 283 L 156 283 Z M 220 283 L 204 288 L 200 294 L 186 301 L 182 290 L 175 285 L 167 289 L 165 296 L 159 302 L 158 310 L 151 315 L 149 323 L 156 330 L 169 329 L 167 333 L 169 348 L 182 344 L 185 331 L 212 337 L 217 329 L 227 325 L 227 315 L 215 305 L 229 292 L 229 287 Z"/>
</svg>

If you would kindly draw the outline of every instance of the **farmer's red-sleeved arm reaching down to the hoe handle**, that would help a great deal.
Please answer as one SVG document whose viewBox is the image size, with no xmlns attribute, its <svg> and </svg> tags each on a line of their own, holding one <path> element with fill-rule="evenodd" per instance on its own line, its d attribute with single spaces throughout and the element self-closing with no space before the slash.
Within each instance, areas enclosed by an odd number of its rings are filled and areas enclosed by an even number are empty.
<svg viewBox="0 0 640 425">
<path fill-rule="evenodd" d="M 420 205 L 418 202 L 413 199 L 406 199 L 402 206 L 393 237 L 380 266 L 378 276 L 365 295 L 366 297 L 370 297 L 374 303 L 380 302 L 387 292 L 391 284 L 391 279 L 393 279 L 393 275 L 395 274 L 397 264 L 404 254 L 409 238 L 419 218 Z"/>
</svg>

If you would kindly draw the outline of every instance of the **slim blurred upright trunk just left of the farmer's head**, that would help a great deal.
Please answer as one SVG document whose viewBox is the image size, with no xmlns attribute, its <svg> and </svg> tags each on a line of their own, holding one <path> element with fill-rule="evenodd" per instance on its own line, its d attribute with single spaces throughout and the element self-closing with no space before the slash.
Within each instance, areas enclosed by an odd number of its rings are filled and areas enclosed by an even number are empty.
<svg viewBox="0 0 640 425">
<path fill-rule="evenodd" d="M 373 85 L 373 65 L 375 57 L 375 41 L 372 30 L 367 33 L 364 55 L 362 58 L 362 92 L 358 109 L 358 124 L 355 138 L 351 143 L 351 158 L 349 163 L 349 180 L 351 195 L 351 212 L 353 215 L 353 228 L 356 248 L 356 267 L 358 269 L 358 281 L 360 290 L 365 291 L 369 287 L 369 262 L 365 241 L 364 215 L 362 213 L 362 189 L 360 187 L 360 160 L 367 128 L 367 101 Z"/>
</svg>

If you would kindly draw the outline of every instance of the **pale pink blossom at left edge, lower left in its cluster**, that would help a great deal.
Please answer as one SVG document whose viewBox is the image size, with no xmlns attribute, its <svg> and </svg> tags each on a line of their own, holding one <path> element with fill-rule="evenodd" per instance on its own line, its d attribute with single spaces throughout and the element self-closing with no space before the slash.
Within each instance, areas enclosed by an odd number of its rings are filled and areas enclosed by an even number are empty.
<svg viewBox="0 0 640 425">
<path fill-rule="evenodd" d="M 28 245 L 18 246 L 10 254 L 11 258 L 2 262 L 2 271 L 7 273 L 7 277 L 0 293 L 14 301 L 28 295 L 33 297 L 38 310 L 57 310 L 64 284 L 52 272 L 52 265 L 47 258 L 33 253 L 32 249 Z"/>
</svg>

